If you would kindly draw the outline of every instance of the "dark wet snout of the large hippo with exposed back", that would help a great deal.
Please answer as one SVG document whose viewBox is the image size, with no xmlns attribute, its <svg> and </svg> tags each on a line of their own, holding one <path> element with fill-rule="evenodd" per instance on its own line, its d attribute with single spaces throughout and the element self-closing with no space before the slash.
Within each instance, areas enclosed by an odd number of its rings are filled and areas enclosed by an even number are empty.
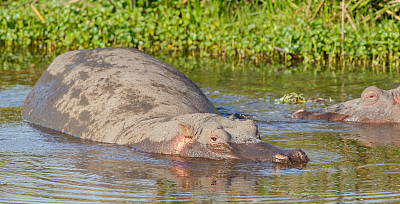
<svg viewBox="0 0 400 204">
<path fill-rule="evenodd" d="M 301 149 L 285 150 L 266 142 L 231 144 L 234 153 L 245 160 L 273 163 L 307 163 L 308 156 Z"/>
</svg>

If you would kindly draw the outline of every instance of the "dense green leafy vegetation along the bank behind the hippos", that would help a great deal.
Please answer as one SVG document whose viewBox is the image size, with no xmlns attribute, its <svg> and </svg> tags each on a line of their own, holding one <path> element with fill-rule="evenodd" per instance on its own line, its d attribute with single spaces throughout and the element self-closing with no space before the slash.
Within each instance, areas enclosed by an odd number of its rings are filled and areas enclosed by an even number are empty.
<svg viewBox="0 0 400 204">
<path fill-rule="evenodd" d="M 400 66 L 399 1 L 348 0 L 346 9 L 338 0 L 1 2 L 6 50 L 130 46 L 288 64 Z"/>
</svg>

